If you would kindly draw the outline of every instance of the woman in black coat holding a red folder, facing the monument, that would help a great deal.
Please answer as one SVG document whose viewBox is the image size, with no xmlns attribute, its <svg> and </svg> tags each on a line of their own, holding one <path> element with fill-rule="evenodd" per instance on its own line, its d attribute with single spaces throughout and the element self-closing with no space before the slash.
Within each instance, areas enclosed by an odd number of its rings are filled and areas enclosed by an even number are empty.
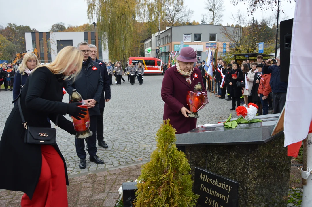
<svg viewBox="0 0 312 207">
<path fill-rule="evenodd" d="M 236 74 L 236 77 L 234 75 L 234 77 L 232 76 L 233 74 Z M 236 82 L 237 81 L 243 81 L 244 80 L 244 74 L 243 71 L 241 70 L 241 68 L 239 68 L 239 64 L 238 63 L 233 63 L 232 64 L 232 70 L 230 73 L 230 94 L 232 97 L 232 108 L 230 109 L 235 110 L 235 101 L 237 103 L 237 106 L 241 105 L 241 95 L 242 95 L 242 88 L 241 87 L 237 87 Z"/>
</svg>

